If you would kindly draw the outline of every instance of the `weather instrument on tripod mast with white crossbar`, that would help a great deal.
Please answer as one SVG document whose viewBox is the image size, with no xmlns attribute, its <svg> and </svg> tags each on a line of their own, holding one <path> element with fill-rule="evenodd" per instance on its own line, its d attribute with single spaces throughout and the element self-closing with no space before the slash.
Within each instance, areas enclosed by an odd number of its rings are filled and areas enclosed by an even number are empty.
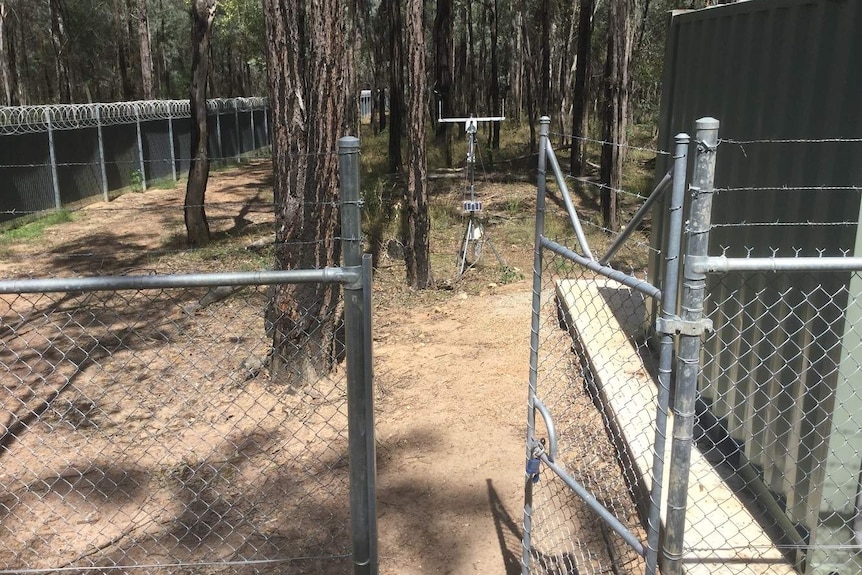
<svg viewBox="0 0 862 575">
<path fill-rule="evenodd" d="M 494 248 L 491 239 L 486 235 L 485 228 L 479 213 L 482 211 L 482 201 L 476 198 L 476 155 L 478 150 L 478 139 L 476 137 L 479 122 L 502 122 L 505 116 L 470 116 L 469 118 L 443 118 L 442 105 L 438 108 L 437 121 L 446 124 L 464 124 L 464 132 L 467 137 L 467 160 L 465 165 L 467 183 L 464 189 L 464 197 L 461 208 L 467 214 L 467 229 L 464 238 L 458 248 L 458 275 L 464 274 L 467 269 L 467 254 L 472 252 L 472 263 L 475 265 L 482 255 L 482 247 L 488 244 L 494 252 L 497 261 L 505 267 L 506 263 Z"/>
</svg>

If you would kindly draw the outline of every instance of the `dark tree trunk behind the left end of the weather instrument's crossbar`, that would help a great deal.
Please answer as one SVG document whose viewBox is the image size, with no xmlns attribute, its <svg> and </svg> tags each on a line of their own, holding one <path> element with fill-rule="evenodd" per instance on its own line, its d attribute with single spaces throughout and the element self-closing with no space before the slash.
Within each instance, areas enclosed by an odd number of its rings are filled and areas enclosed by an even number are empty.
<svg viewBox="0 0 862 575">
<path fill-rule="evenodd" d="M 438 106 L 434 113 L 445 117 L 452 115 L 452 67 L 454 22 L 452 12 L 453 0 L 437 0 L 437 15 L 434 17 L 434 98 Z M 452 138 L 449 124 L 440 122 L 434 134 L 438 146 L 443 146 L 446 152 L 446 165 L 452 165 Z"/>
</svg>

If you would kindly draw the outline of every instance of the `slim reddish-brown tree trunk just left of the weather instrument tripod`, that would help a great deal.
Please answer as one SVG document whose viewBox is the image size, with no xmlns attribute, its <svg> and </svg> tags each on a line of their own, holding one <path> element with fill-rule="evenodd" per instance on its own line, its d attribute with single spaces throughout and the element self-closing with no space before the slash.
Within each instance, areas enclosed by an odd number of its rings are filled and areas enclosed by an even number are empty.
<svg viewBox="0 0 862 575">
<path fill-rule="evenodd" d="M 404 237 L 407 283 L 411 287 L 433 287 L 431 277 L 431 221 L 428 217 L 428 187 L 426 180 L 425 103 L 425 33 L 422 27 L 422 0 L 407 2 L 407 62 L 410 76 L 407 118 L 410 137 L 407 138 L 407 202 Z"/>
</svg>

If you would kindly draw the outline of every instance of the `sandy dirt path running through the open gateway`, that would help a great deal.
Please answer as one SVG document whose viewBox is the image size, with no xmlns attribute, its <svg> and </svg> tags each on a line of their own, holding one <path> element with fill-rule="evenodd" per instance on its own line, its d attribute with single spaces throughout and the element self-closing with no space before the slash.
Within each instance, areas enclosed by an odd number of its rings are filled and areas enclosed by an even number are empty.
<svg viewBox="0 0 862 575">
<path fill-rule="evenodd" d="M 520 573 L 529 310 L 523 281 L 380 307 L 383 573 Z"/>
</svg>

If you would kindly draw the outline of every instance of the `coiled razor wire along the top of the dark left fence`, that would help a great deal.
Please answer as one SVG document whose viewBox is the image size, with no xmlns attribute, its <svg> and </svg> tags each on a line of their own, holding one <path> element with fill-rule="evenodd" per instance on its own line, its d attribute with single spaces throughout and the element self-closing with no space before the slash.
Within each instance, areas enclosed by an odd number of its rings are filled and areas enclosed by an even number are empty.
<svg viewBox="0 0 862 575">
<path fill-rule="evenodd" d="M 207 100 L 210 113 L 261 110 L 266 98 L 215 98 Z M 50 104 L 44 106 L 0 106 L 0 134 L 26 134 L 53 130 L 75 130 L 98 125 L 131 124 L 139 120 L 188 118 L 188 100 L 139 100 L 94 104 Z"/>
</svg>

